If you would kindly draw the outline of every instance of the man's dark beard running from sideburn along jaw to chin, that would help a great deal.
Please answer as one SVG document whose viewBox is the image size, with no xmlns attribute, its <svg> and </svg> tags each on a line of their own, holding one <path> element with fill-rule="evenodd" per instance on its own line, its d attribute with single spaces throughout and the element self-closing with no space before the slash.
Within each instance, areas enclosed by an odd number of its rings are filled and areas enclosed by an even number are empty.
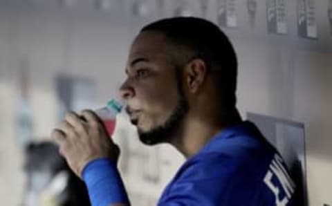
<svg viewBox="0 0 332 206">
<path fill-rule="evenodd" d="M 176 68 L 176 83 L 178 88 L 178 104 L 172 115 L 165 121 L 164 124 L 151 129 L 150 131 L 138 131 L 140 141 L 147 145 L 154 145 L 163 142 L 169 142 L 170 138 L 178 131 L 181 127 L 181 123 L 185 118 L 189 110 L 188 102 L 185 97 L 182 79 L 181 79 L 181 70 Z"/>
</svg>

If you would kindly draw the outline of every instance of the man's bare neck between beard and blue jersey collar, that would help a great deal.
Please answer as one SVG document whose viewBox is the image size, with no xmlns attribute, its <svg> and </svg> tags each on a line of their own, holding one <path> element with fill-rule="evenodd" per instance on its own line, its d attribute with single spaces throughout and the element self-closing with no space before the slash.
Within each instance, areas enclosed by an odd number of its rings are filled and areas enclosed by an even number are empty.
<svg viewBox="0 0 332 206">
<path fill-rule="evenodd" d="M 199 152 L 218 133 L 225 128 L 241 122 L 237 109 L 221 120 L 204 120 L 199 117 L 187 116 L 183 122 L 181 134 L 178 134 L 171 144 L 178 149 L 185 158 L 191 158 Z"/>
</svg>

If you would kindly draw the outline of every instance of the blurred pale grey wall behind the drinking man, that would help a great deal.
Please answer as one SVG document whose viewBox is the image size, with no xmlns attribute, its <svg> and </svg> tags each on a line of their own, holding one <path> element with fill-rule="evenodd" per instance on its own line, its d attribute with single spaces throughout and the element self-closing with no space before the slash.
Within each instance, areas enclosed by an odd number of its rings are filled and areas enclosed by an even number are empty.
<svg viewBox="0 0 332 206">
<path fill-rule="evenodd" d="M 332 0 L 0 0 L 0 205 L 43 205 L 36 196 L 62 169 L 32 171 L 29 162 L 46 155 L 29 158 L 39 148 L 31 142 L 49 140 L 67 110 L 116 97 L 133 37 L 174 16 L 225 31 L 239 57 L 241 115 L 299 127 L 270 130 L 286 142 L 297 134 L 308 205 L 332 205 Z M 184 158 L 167 145 L 143 146 L 121 125 L 114 138 L 132 203 L 156 205 Z"/>
</svg>

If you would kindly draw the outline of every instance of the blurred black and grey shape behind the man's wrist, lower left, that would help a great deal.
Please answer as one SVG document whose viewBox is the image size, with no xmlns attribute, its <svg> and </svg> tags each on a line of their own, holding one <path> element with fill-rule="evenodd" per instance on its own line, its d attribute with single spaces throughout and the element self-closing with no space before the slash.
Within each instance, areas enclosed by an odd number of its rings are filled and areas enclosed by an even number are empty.
<svg viewBox="0 0 332 206">
<path fill-rule="evenodd" d="M 30 142 L 25 149 L 23 206 L 90 206 L 84 182 L 59 155 L 57 144 Z"/>
</svg>

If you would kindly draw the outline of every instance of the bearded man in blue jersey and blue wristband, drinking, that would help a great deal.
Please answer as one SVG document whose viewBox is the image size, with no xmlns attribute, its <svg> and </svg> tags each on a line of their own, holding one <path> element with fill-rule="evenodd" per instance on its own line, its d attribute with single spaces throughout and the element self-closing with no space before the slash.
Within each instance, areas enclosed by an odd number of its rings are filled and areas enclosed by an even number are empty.
<svg viewBox="0 0 332 206">
<path fill-rule="evenodd" d="M 237 57 L 217 26 L 194 17 L 145 26 L 126 73 L 120 93 L 140 140 L 187 158 L 158 205 L 295 205 L 279 153 L 237 111 Z M 93 111 L 68 113 L 53 138 L 93 205 L 129 205 L 119 149 Z"/>
</svg>

